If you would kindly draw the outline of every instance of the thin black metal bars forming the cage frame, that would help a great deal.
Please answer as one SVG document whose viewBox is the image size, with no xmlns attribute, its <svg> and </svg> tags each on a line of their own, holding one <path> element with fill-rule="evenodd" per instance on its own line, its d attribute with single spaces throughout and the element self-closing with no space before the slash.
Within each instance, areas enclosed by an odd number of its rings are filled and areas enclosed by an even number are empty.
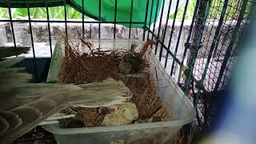
<svg viewBox="0 0 256 144">
<path fill-rule="evenodd" d="M 177 58 L 177 51 L 178 51 L 178 46 L 179 46 L 179 41 L 181 38 L 181 34 L 182 34 L 182 28 L 183 28 L 183 24 L 185 21 L 185 17 L 186 17 L 186 10 L 188 7 L 188 3 L 190 2 L 190 0 L 186 0 L 186 4 L 185 4 L 185 8 L 183 10 L 183 14 L 182 14 L 182 22 L 180 25 L 180 29 L 178 30 L 178 41 L 175 44 L 175 49 L 174 52 L 172 52 L 170 50 L 170 44 L 171 44 L 171 40 L 173 38 L 174 35 L 174 24 L 175 24 L 175 20 L 177 17 L 177 13 L 178 13 L 178 2 L 176 4 L 175 7 L 175 11 L 174 11 L 174 19 L 173 19 L 173 23 L 170 29 L 170 39 L 167 42 L 168 45 L 165 44 L 165 38 L 166 38 L 166 33 L 167 33 L 167 25 L 168 25 L 168 20 L 169 17 L 166 18 L 166 23 L 163 26 L 163 33 L 161 34 L 161 27 L 162 27 L 162 16 L 163 16 L 163 8 L 164 8 L 164 3 L 165 1 L 168 0 L 163 0 L 162 4 L 159 3 L 158 0 L 147 0 L 145 3 L 146 6 L 146 11 L 145 11 L 145 20 L 144 22 L 133 22 L 132 18 L 133 18 L 133 5 L 134 5 L 134 0 L 131 0 L 130 3 L 130 21 L 127 22 L 118 22 L 117 21 L 117 6 L 118 6 L 118 0 L 115 0 L 115 13 L 114 13 L 114 21 L 102 21 L 101 19 L 101 7 L 102 7 L 102 0 L 99 0 L 98 6 L 99 6 L 99 15 L 98 15 L 98 21 L 85 21 L 85 1 L 82 0 L 82 19 L 81 20 L 68 20 L 67 19 L 67 8 L 66 6 L 68 5 L 68 0 L 62 0 L 63 2 L 63 9 L 64 9 L 64 15 L 65 18 L 64 20 L 51 20 L 50 19 L 50 14 L 49 14 L 49 0 L 45 0 L 45 8 L 46 8 L 46 19 L 33 19 L 30 16 L 30 2 L 31 0 L 26 0 L 26 10 L 27 10 L 27 16 L 28 19 L 14 19 L 12 18 L 12 11 L 11 9 L 13 8 L 10 5 L 11 0 L 5 0 L 4 2 L 6 2 L 6 9 L 8 11 L 8 15 L 9 15 L 9 19 L 0 19 L 0 22 L 9 22 L 10 23 L 10 29 L 11 29 L 11 34 L 12 34 L 12 38 L 13 38 L 13 43 L 14 43 L 14 48 L 17 49 L 17 42 L 15 39 L 15 31 L 14 31 L 14 22 L 26 22 L 29 23 L 29 30 L 30 30 L 30 41 L 31 41 L 31 47 L 33 50 L 33 73 L 34 73 L 34 82 L 39 82 L 38 80 L 38 60 L 35 56 L 35 51 L 34 51 L 34 38 L 33 38 L 33 30 L 32 30 L 32 22 L 44 22 L 47 23 L 47 28 L 48 28 L 48 40 L 50 43 L 50 58 L 52 58 L 52 52 L 53 52 L 53 48 L 52 48 L 52 37 L 51 37 L 51 30 L 50 30 L 50 25 L 51 23 L 64 23 L 65 24 L 65 34 L 66 36 L 68 35 L 68 24 L 69 23 L 79 23 L 82 26 L 82 36 L 83 38 L 85 37 L 85 24 L 86 23 L 90 23 L 90 24 L 98 24 L 98 38 L 101 38 L 101 26 L 104 23 L 110 23 L 110 24 L 114 24 L 114 33 L 113 33 L 113 38 L 117 38 L 116 36 L 116 25 L 118 24 L 129 24 L 129 35 L 128 38 L 131 38 L 131 26 L 132 24 L 143 24 L 143 36 L 142 36 L 142 40 L 149 40 L 149 39 L 154 39 L 156 41 L 156 48 L 154 49 L 154 54 L 158 54 L 158 50 L 159 50 L 159 61 L 162 61 L 162 53 L 163 50 L 166 50 L 166 58 L 164 59 L 164 67 L 166 68 L 167 65 L 167 59 L 170 56 L 171 58 L 173 58 L 173 62 L 171 65 L 171 70 L 170 70 L 170 75 L 173 75 L 174 73 L 174 65 L 178 64 L 179 65 L 179 70 L 178 70 L 178 85 L 182 87 L 182 90 L 184 91 L 184 93 L 186 95 L 192 95 L 193 98 L 193 102 L 194 102 L 194 106 L 197 109 L 198 112 L 198 100 L 202 97 L 206 97 L 204 95 L 210 95 L 209 97 L 212 98 L 214 97 L 214 95 L 218 94 L 218 88 L 219 85 L 222 83 L 222 77 L 224 75 L 224 77 L 226 77 L 226 66 L 229 66 L 229 62 L 230 62 L 230 53 L 232 53 L 232 50 L 235 49 L 234 48 L 234 44 L 237 43 L 236 38 L 240 38 L 242 37 L 242 32 L 238 33 L 238 30 L 240 30 L 241 28 L 241 24 L 243 23 L 243 20 L 246 19 L 244 18 L 244 14 L 250 14 L 249 12 L 246 12 L 246 5 L 248 4 L 248 2 L 252 3 L 253 7 L 254 7 L 254 2 L 253 0 L 242 0 L 242 7 L 240 7 L 239 11 L 238 11 L 238 18 L 237 18 L 237 23 L 234 26 L 234 32 L 232 34 L 232 37 L 230 38 L 230 43 L 229 46 L 227 47 L 225 54 L 224 54 L 224 58 L 223 61 L 221 63 L 221 67 L 220 70 L 218 70 L 220 77 L 218 77 L 217 82 L 215 82 L 215 86 L 214 86 L 214 90 L 209 91 L 206 89 L 206 86 L 204 86 L 204 81 L 206 79 L 206 75 L 207 75 L 207 70 L 209 70 L 209 65 L 210 65 L 210 60 L 212 59 L 213 54 L 215 54 L 215 46 L 218 45 L 218 43 L 220 42 L 219 37 L 220 34 L 222 34 L 222 28 L 223 28 L 223 24 L 225 24 L 226 20 L 225 20 L 225 16 L 226 16 L 226 11 L 227 11 L 227 7 L 230 5 L 229 2 L 230 0 L 197 0 L 196 5 L 194 6 L 194 14 L 193 17 L 191 19 L 190 22 L 190 27 L 189 27 L 189 34 L 186 38 L 186 43 L 184 43 L 184 51 L 182 53 L 182 59 Z M 151 6 L 149 5 L 151 1 Z M 153 11 L 153 5 L 154 2 L 157 1 L 157 10 L 158 7 L 160 6 L 160 8 L 162 8 L 159 11 L 160 14 L 160 23 L 159 26 L 156 26 L 156 22 L 153 23 L 153 28 L 150 27 L 150 25 L 147 25 L 147 17 L 148 17 L 148 10 L 150 10 L 150 22 L 151 23 L 151 16 L 152 16 L 152 11 Z M 196 59 L 198 58 L 198 52 L 200 52 L 200 49 L 202 49 L 202 37 L 205 34 L 206 30 L 206 26 L 207 26 L 207 19 L 210 16 L 210 10 L 213 9 L 214 6 L 211 6 L 212 2 L 222 2 L 222 6 L 220 6 L 219 11 L 221 11 L 220 17 L 216 18 L 218 19 L 218 26 L 216 28 L 216 30 L 213 32 L 214 38 L 213 38 L 213 42 L 210 42 L 210 51 L 209 54 L 206 54 L 206 63 L 203 63 L 203 65 L 205 65 L 205 67 L 202 66 L 202 71 L 203 73 L 201 74 L 201 78 L 196 78 L 196 75 L 194 75 L 194 68 L 196 66 Z M 231 2 L 233 2 L 231 0 Z M 170 0 L 170 5 L 169 10 L 168 10 L 168 15 L 170 14 L 170 6 L 172 5 L 172 0 Z M 238 8 L 237 8 L 238 9 Z M 252 11 L 252 10 L 251 10 Z M 154 19 L 157 18 L 157 14 L 154 15 Z M 249 19 L 249 18 L 248 18 Z M 248 21 L 249 22 L 249 21 Z M 246 23 L 247 25 L 247 23 Z M 241 31 L 243 31 L 244 28 L 242 28 Z M 198 32 L 198 31 L 199 32 Z M 146 36 L 147 34 L 147 36 Z M 159 49 L 158 49 L 158 45 Z M 189 55 L 189 56 L 188 56 Z M 16 56 L 17 53 L 16 53 Z M 188 58 L 187 60 L 187 65 L 185 65 L 185 61 L 186 58 Z M 182 70 L 182 66 L 187 66 L 186 70 Z M 186 78 L 182 81 L 182 73 L 184 73 L 186 75 Z M 215 72 L 214 72 L 215 73 Z M 228 78 L 227 78 L 228 79 Z M 193 93 L 191 94 L 190 91 L 193 91 Z M 196 90 L 197 92 L 194 92 L 194 90 Z M 203 99 L 203 98 L 202 98 Z M 206 102 L 205 105 L 210 105 L 210 99 L 208 100 L 209 102 Z M 211 106 L 206 106 L 205 109 L 206 110 L 210 110 Z M 207 111 L 207 113 L 209 113 L 209 111 Z M 206 117 L 204 118 L 206 120 L 206 118 L 209 118 L 210 116 L 206 114 Z M 198 118 L 197 118 L 198 119 Z M 207 121 L 207 120 L 206 120 Z M 201 124 L 199 124 L 201 125 Z M 202 124 L 202 126 L 200 127 L 207 127 L 208 124 L 207 122 L 204 122 Z M 188 131 L 190 131 L 190 125 L 188 126 L 184 126 L 186 127 L 186 129 L 184 130 L 184 134 L 188 134 Z M 184 142 L 187 141 L 187 138 L 185 138 Z"/>
</svg>

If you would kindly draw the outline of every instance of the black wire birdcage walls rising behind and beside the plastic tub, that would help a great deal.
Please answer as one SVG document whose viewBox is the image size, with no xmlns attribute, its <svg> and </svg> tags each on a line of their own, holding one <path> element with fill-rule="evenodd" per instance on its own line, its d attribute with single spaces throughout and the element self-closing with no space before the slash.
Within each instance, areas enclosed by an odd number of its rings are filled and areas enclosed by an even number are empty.
<svg viewBox="0 0 256 144">
<path fill-rule="evenodd" d="M 62 7 L 54 11 L 54 6 Z M 33 82 L 46 81 L 59 35 L 78 30 L 83 38 L 154 40 L 152 52 L 194 103 L 197 124 L 203 128 L 210 126 L 212 98 L 230 79 L 236 46 L 250 22 L 254 1 L 5 0 L 0 7 L 0 45 L 16 50 L 31 46 L 19 65 L 34 75 Z M 125 13 L 120 7 L 126 8 Z M 40 10 L 45 16 L 36 15 Z M 71 19 L 70 11 L 75 10 L 80 14 Z"/>
</svg>

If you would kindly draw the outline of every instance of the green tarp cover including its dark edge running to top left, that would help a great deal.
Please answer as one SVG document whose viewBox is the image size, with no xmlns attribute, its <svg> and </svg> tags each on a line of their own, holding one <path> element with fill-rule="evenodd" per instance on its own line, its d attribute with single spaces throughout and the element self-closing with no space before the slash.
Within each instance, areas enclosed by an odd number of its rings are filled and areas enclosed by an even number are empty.
<svg viewBox="0 0 256 144">
<path fill-rule="evenodd" d="M 6 2 L 8 1 L 8 2 Z M 22 7 L 46 7 L 46 0 L 6 0 L 0 2 L 0 7 L 14 7 L 14 8 L 22 8 Z M 130 12 L 131 12 L 131 1 L 132 0 L 118 0 L 117 4 L 117 22 L 130 22 Z M 152 2 L 154 1 L 154 5 Z M 157 1 L 159 1 L 158 10 L 157 9 Z M 29 4 L 27 4 L 29 2 Z M 48 0 L 48 6 L 63 6 L 63 0 Z M 132 19 L 131 22 L 145 22 L 146 17 L 146 3 L 147 0 L 134 0 L 133 9 L 132 9 Z M 82 12 L 82 0 L 66 0 L 66 4 L 74 7 L 74 9 Z M 160 7 L 162 4 L 162 0 L 149 0 L 149 6 L 147 11 L 146 24 L 148 25 L 150 22 L 151 15 L 151 23 L 155 21 L 155 13 L 159 13 Z M 151 6 L 152 14 L 151 13 Z M 90 18 L 101 19 L 105 22 L 114 22 L 114 12 L 115 12 L 115 0 L 101 0 L 101 17 L 99 18 L 99 0 L 84 0 L 84 14 L 86 14 Z M 158 16 L 156 17 L 158 18 Z M 129 23 L 118 23 L 123 26 L 130 26 Z M 132 24 L 132 27 L 142 28 L 144 23 L 140 24 Z"/>
</svg>

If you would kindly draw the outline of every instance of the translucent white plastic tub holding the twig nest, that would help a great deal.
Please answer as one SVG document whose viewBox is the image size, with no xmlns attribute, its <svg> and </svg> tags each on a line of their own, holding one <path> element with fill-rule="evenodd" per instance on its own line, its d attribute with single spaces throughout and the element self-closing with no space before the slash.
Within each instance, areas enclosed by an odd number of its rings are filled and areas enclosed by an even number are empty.
<svg viewBox="0 0 256 144">
<path fill-rule="evenodd" d="M 131 42 L 138 42 L 143 44 L 142 41 L 128 40 L 128 39 L 101 39 L 100 42 L 97 39 L 90 40 L 94 46 L 98 47 L 100 44 L 102 49 L 118 49 L 130 47 Z M 58 61 L 58 58 L 62 58 L 58 52 L 59 46 L 56 45 L 54 50 L 54 58 L 52 58 L 50 66 L 50 75 L 48 80 L 54 80 L 56 70 L 53 67 Z M 140 47 L 140 46 L 138 46 Z M 56 55 L 58 54 L 58 55 Z M 178 130 L 181 129 L 186 123 L 192 122 L 195 117 L 194 106 L 183 94 L 182 90 L 175 84 L 173 78 L 170 78 L 169 74 L 162 67 L 161 63 L 154 56 L 150 54 L 150 72 L 154 78 L 154 85 L 157 86 L 158 94 L 162 98 L 162 102 L 168 107 L 173 115 L 173 118 L 169 122 L 150 122 L 150 123 L 138 123 L 122 126 L 99 126 L 88 128 L 72 128 L 62 129 L 58 127 L 58 124 L 42 126 L 44 129 L 54 134 L 54 138 L 60 144 L 107 144 L 107 143 L 165 143 L 171 142 Z M 58 61 L 59 62 L 59 61 Z M 58 72 L 58 70 L 57 70 Z M 158 78 L 156 78 L 158 75 Z M 111 144 L 112 144 L 111 143 Z"/>
</svg>

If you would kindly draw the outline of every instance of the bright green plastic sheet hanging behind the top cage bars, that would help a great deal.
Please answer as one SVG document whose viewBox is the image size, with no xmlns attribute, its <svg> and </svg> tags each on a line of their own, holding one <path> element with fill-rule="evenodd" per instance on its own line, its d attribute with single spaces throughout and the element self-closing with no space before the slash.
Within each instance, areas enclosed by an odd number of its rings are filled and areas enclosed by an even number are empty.
<svg viewBox="0 0 256 144">
<path fill-rule="evenodd" d="M 132 0 L 118 0 L 117 3 L 117 14 L 116 21 L 117 22 L 141 22 L 140 24 L 132 23 L 131 27 L 142 28 L 145 24 L 150 24 L 150 15 L 151 15 L 151 23 L 155 21 L 155 14 L 158 13 L 162 4 L 162 0 L 149 0 L 147 17 L 146 17 L 146 3 L 147 0 L 133 0 L 133 8 L 131 9 L 131 1 Z M 151 6 L 152 2 L 152 14 Z M 157 1 L 158 10 L 157 10 Z M 82 12 L 82 0 L 71 0 L 71 5 L 79 11 Z M 85 0 L 84 1 L 84 10 L 86 14 L 90 14 L 92 18 L 98 18 L 105 22 L 114 22 L 114 13 L 115 13 L 115 0 L 101 0 L 101 17 L 99 18 L 99 0 Z M 132 10 L 132 18 L 130 19 L 130 13 Z M 123 26 L 130 26 L 130 23 L 120 23 Z"/>
</svg>

